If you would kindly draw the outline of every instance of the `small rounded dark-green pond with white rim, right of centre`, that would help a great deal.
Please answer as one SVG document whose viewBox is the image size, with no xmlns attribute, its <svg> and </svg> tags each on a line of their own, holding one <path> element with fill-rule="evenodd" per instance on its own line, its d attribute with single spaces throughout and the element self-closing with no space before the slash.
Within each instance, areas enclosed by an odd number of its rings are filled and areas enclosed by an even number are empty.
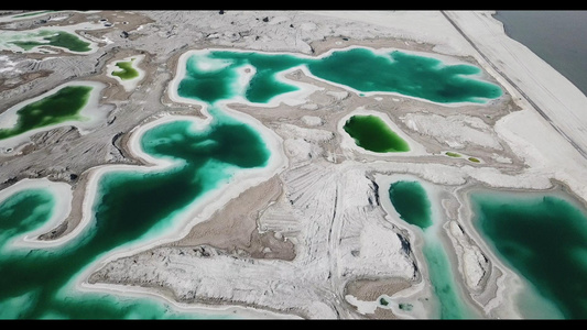
<svg viewBox="0 0 587 330">
<path fill-rule="evenodd" d="M 352 116 L 343 127 L 355 143 L 376 153 L 407 152 L 407 143 L 377 116 Z"/>
</svg>

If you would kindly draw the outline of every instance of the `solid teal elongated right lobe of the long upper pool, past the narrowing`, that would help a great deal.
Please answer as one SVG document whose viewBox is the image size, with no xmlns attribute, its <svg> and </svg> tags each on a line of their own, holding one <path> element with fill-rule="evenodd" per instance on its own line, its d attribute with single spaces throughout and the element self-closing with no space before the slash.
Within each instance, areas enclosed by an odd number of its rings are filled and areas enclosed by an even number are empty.
<svg viewBox="0 0 587 330">
<path fill-rule="evenodd" d="M 476 79 L 472 65 L 446 65 L 439 59 L 393 51 L 385 55 L 367 48 L 333 52 L 308 64 L 315 76 L 362 92 L 389 91 L 438 103 L 485 103 L 499 98 L 501 88 Z"/>
</svg>

